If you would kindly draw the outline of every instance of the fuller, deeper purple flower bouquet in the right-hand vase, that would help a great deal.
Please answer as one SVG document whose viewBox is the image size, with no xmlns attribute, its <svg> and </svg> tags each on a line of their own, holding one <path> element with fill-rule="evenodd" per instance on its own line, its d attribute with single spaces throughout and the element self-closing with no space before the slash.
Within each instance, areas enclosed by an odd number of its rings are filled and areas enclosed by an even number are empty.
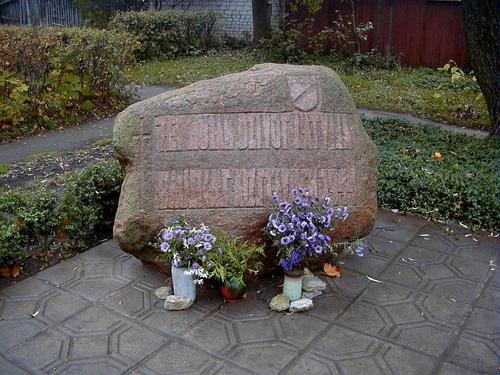
<svg viewBox="0 0 500 375">
<path fill-rule="evenodd" d="M 347 208 L 330 207 L 331 199 L 320 201 L 302 188 L 292 189 L 293 200 L 281 200 L 273 193 L 277 208 L 269 215 L 266 232 L 278 249 L 285 271 L 301 267 L 312 257 L 332 251 L 327 232 L 335 220 L 347 219 Z"/>
</svg>

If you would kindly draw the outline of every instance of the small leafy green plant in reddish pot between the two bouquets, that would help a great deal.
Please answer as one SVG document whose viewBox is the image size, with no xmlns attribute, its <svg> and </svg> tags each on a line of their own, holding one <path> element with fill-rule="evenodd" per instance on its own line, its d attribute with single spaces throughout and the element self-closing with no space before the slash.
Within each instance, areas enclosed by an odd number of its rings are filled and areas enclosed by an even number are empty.
<svg viewBox="0 0 500 375">
<path fill-rule="evenodd" d="M 260 258 L 264 248 L 217 234 L 217 249 L 209 255 L 209 274 L 220 282 L 220 290 L 228 302 L 241 299 L 246 291 L 246 281 L 262 270 Z"/>
</svg>

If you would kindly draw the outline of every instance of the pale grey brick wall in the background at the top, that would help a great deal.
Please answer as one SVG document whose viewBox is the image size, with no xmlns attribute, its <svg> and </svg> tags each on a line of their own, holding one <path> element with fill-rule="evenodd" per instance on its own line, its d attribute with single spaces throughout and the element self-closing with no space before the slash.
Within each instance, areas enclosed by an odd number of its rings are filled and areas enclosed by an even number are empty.
<svg viewBox="0 0 500 375">
<path fill-rule="evenodd" d="M 273 1 L 273 19 L 278 14 L 278 0 Z M 162 9 L 212 10 L 222 18 L 222 31 L 228 35 L 242 38 L 252 35 L 252 0 L 163 0 Z"/>
</svg>

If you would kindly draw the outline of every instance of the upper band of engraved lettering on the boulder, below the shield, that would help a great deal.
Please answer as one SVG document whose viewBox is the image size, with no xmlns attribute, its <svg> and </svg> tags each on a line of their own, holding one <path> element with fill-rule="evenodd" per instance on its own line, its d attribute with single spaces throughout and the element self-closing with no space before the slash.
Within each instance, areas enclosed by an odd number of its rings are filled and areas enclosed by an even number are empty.
<svg viewBox="0 0 500 375">
<path fill-rule="evenodd" d="M 322 112 L 162 116 L 154 128 L 154 151 L 352 149 L 348 116 Z"/>
</svg>

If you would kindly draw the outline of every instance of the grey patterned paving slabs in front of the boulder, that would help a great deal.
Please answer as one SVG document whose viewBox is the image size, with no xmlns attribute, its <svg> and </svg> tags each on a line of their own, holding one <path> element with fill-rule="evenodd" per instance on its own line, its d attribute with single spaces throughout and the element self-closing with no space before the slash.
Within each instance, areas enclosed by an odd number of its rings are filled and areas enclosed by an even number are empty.
<svg viewBox="0 0 500 375">
<path fill-rule="evenodd" d="M 291 315 L 268 309 L 271 277 L 166 311 L 165 277 L 109 241 L 0 291 L 0 373 L 496 374 L 500 241 L 464 234 L 382 212 L 371 253 Z"/>
</svg>

